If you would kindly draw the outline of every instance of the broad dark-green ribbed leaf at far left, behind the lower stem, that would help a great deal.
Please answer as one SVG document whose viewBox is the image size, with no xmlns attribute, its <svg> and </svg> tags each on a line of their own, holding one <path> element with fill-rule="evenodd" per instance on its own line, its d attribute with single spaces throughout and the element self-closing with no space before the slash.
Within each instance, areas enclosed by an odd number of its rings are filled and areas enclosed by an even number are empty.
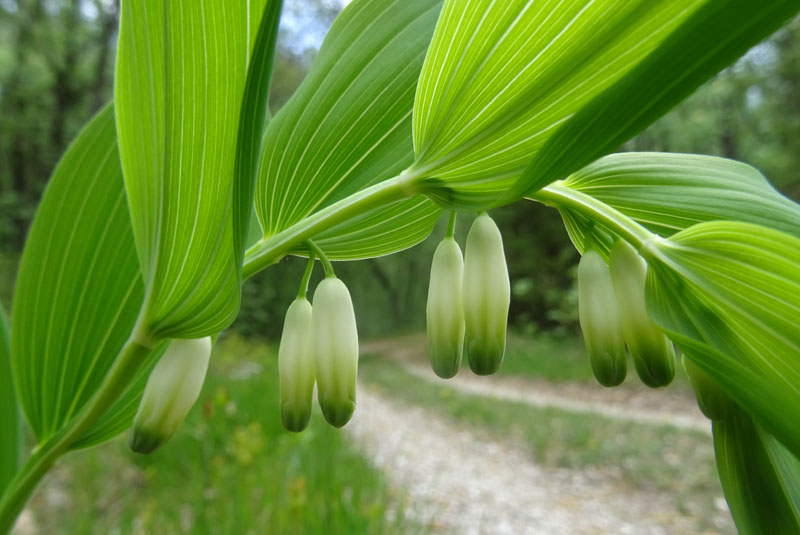
<svg viewBox="0 0 800 535">
<path fill-rule="evenodd" d="M 14 380 L 40 443 L 97 390 L 144 298 L 114 130 L 109 105 L 69 147 L 44 192 L 20 261 Z M 81 445 L 102 442 L 130 425 L 138 388 L 123 393 L 104 417 L 116 427 L 95 426 L 88 431 L 92 441 L 84 438 Z M 126 404 L 133 409 L 121 410 Z"/>
</svg>

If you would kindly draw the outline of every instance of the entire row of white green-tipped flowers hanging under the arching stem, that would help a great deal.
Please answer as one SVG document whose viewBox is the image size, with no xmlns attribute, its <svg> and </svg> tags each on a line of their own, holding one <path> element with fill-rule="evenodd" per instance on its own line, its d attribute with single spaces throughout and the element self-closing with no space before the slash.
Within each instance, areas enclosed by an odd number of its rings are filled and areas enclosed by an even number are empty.
<svg viewBox="0 0 800 535">
<path fill-rule="evenodd" d="M 286 312 L 278 349 L 281 420 L 293 432 L 308 426 L 315 385 L 322 413 L 335 427 L 350 420 L 356 404 L 358 330 L 350 293 L 325 254 L 313 242 L 308 248 L 308 266 Z M 326 276 L 312 305 L 306 293 L 317 258 Z M 665 386 L 675 375 L 675 352 L 647 314 L 647 264 L 622 240 L 613 244 L 608 258 L 607 264 L 587 243 L 578 265 L 579 319 L 592 371 L 604 386 L 621 384 L 627 347 L 642 382 Z M 436 375 L 455 376 L 464 353 L 475 374 L 497 372 L 505 354 L 510 300 L 500 229 L 480 213 L 462 255 L 451 214 L 433 255 L 426 306 L 428 355 Z M 199 395 L 210 351 L 209 338 L 172 342 L 151 373 L 136 415 L 130 440 L 135 451 L 149 453 L 172 436 Z M 724 415 L 727 397 L 691 362 L 684 361 L 684 367 L 706 415 Z"/>
</svg>

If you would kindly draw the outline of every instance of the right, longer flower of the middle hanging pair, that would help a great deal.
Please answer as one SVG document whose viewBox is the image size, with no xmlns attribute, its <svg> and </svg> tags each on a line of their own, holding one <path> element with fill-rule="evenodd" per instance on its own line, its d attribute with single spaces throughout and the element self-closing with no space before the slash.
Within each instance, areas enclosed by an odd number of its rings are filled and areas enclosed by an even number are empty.
<svg viewBox="0 0 800 535">
<path fill-rule="evenodd" d="M 470 368 L 478 375 L 492 374 L 506 350 L 511 283 L 503 237 L 485 213 L 475 219 L 467 235 L 462 295 Z"/>
</svg>

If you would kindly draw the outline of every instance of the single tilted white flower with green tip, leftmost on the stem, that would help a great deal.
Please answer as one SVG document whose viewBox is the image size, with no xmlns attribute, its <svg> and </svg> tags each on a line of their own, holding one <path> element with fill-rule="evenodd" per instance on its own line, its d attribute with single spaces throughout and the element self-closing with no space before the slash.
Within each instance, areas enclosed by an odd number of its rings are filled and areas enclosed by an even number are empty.
<svg viewBox="0 0 800 535">
<path fill-rule="evenodd" d="M 210 356 L 210 337 L 170 342 L 150 372 L 133 419 L 133 451 L 151 453 L 172 437 L 200 395 Z"/>
</svg>

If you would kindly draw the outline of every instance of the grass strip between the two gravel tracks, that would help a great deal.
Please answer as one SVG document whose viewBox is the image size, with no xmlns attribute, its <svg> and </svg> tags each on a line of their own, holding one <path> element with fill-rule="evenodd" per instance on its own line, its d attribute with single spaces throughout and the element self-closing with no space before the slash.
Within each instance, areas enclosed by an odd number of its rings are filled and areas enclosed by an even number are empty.
<svg viewBox="0 0 800 535">
<path fill-rule="evenodd" d="M 722 496 L 711 437 L 703 433 L 462 394 L 379 358 L 362 359 L 359 373 L 386 396 L 521 442 L 543 466 L 599 469 L 631 489 L 671 493 L 679 510 L 693 516 L 715 511 L 715 499 Z"/>
</svg>

